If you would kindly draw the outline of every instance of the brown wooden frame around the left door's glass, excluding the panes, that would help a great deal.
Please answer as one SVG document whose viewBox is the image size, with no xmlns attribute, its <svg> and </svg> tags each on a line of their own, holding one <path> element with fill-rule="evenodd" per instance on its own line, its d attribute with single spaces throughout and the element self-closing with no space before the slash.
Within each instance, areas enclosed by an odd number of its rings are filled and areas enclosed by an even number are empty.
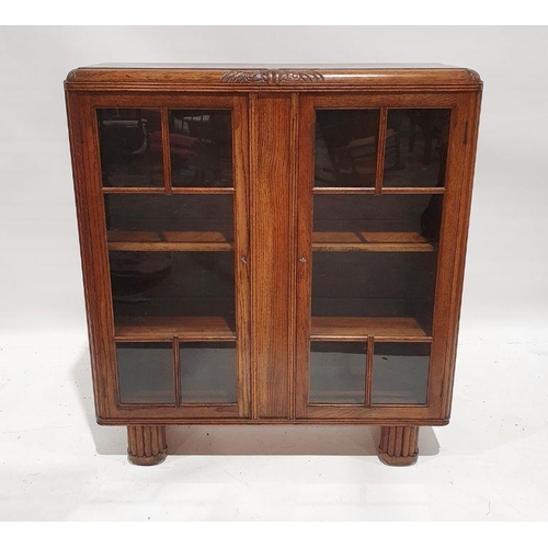
<svg viewBox="0 0 548 548">
<path fill-rule="evenodd" d="M 75 193 L 81 242 L 82 272 L 89 323 L 92 374 L 98 421 L 109 424 L 146 422 L 176 423 L 193 419 L 244 419 L 251 413 L 250 372 L 250 273 L 249 256 L 249 137 L 246 93 L 175 92 L 68 92 Z M 222 109 L 232 115 L 232 160 L 235 191 L 235 290 L 237 324 L 236 404 L 121 404 L 117 384 L 114 313 L 109 270 L 109 248 L 102 187 L 96 109 L 158 107 L 165 118 L 169 109 Z M 162 133 L 169 128 L 162 122 Z M 167 148 L 168 147 L 168 148 Z M 78 149 L 78 150 L 76 150 Z M 169 142 L 163 138 L 163 164 Z M 164 175 L 169 176 L 169 171 Z M 190 194 L 184 187 L 146 190 L 145 193 Z M 207 194 L 207 190 L 203 192 Z M 244 259 L 242 259 L 244 258 Z M 127 340 L 127 339 L 126 339 Z M 210 340 L 210 339 L 208 339 Z M 140 342 L 135 339 L 135 342 Z M 147 342 L 152 342 L 147 340 Z M 158 341 L 162 342 L 162 341 Z"/>
</svg>

